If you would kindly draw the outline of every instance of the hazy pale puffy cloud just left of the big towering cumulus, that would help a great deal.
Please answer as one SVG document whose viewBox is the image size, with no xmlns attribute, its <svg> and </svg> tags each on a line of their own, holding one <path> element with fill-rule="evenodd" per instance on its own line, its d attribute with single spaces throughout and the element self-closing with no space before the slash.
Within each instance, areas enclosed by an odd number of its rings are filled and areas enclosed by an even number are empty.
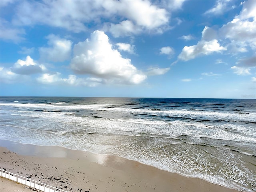
<svg viewBox="0 0 256 192">
<path fill-rule="evenodd" d="M 50 47 L 39 48 L 42 60 L 62 62 L 70 58 L 72 45 L 70 40 L 62 39 L 54 34 L 50 34 L 46 38 Z"/>
</svg>

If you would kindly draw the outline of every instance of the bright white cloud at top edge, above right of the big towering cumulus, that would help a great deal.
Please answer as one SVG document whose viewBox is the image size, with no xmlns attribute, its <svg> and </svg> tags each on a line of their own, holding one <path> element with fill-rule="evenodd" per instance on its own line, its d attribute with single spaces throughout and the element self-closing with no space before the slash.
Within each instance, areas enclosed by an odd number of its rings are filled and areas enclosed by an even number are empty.
<svg viewBox="0 0 256 192">
<path fill-rule="evenodd" d="M 116 12 L 125 19 L 119 23 L 105 25 L 113 36 L 130 36 L 144 31 L 162 33 L 168 27 L 169 14 L 163 8 L 151 4 L 149 1 L 115 1 Z"/>
</svg>

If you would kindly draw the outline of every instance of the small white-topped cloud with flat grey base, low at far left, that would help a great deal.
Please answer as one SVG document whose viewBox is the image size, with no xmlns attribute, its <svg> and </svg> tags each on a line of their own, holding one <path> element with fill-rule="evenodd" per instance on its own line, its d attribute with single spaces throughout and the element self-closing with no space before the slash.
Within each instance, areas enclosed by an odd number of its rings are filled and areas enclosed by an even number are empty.
<svg viewBox="0 0 256 192">
<path fill-rule="evenodd" d="M 30 57 L 27 56 L 26 60 L 19 59 L 13 67 L 11 67 L 11 71 L 16 74 L 22 75 L 30 75 L 35 73 L 41 73 L 45 71 L 46 68 L 44 65 L 39 65 Z"/>
</svg>

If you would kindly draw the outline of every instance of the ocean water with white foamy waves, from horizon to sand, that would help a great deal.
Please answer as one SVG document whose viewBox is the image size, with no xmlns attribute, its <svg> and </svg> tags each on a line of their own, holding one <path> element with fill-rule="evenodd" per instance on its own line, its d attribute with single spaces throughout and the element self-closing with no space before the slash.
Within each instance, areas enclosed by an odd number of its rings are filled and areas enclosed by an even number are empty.
<svg viewBox="0 0 256 192">
<path fill-rule="evenodd" d="M 112 154 L 256 191 L 256 100 L 1 97 L 0 138 Z"/>
</svg>

